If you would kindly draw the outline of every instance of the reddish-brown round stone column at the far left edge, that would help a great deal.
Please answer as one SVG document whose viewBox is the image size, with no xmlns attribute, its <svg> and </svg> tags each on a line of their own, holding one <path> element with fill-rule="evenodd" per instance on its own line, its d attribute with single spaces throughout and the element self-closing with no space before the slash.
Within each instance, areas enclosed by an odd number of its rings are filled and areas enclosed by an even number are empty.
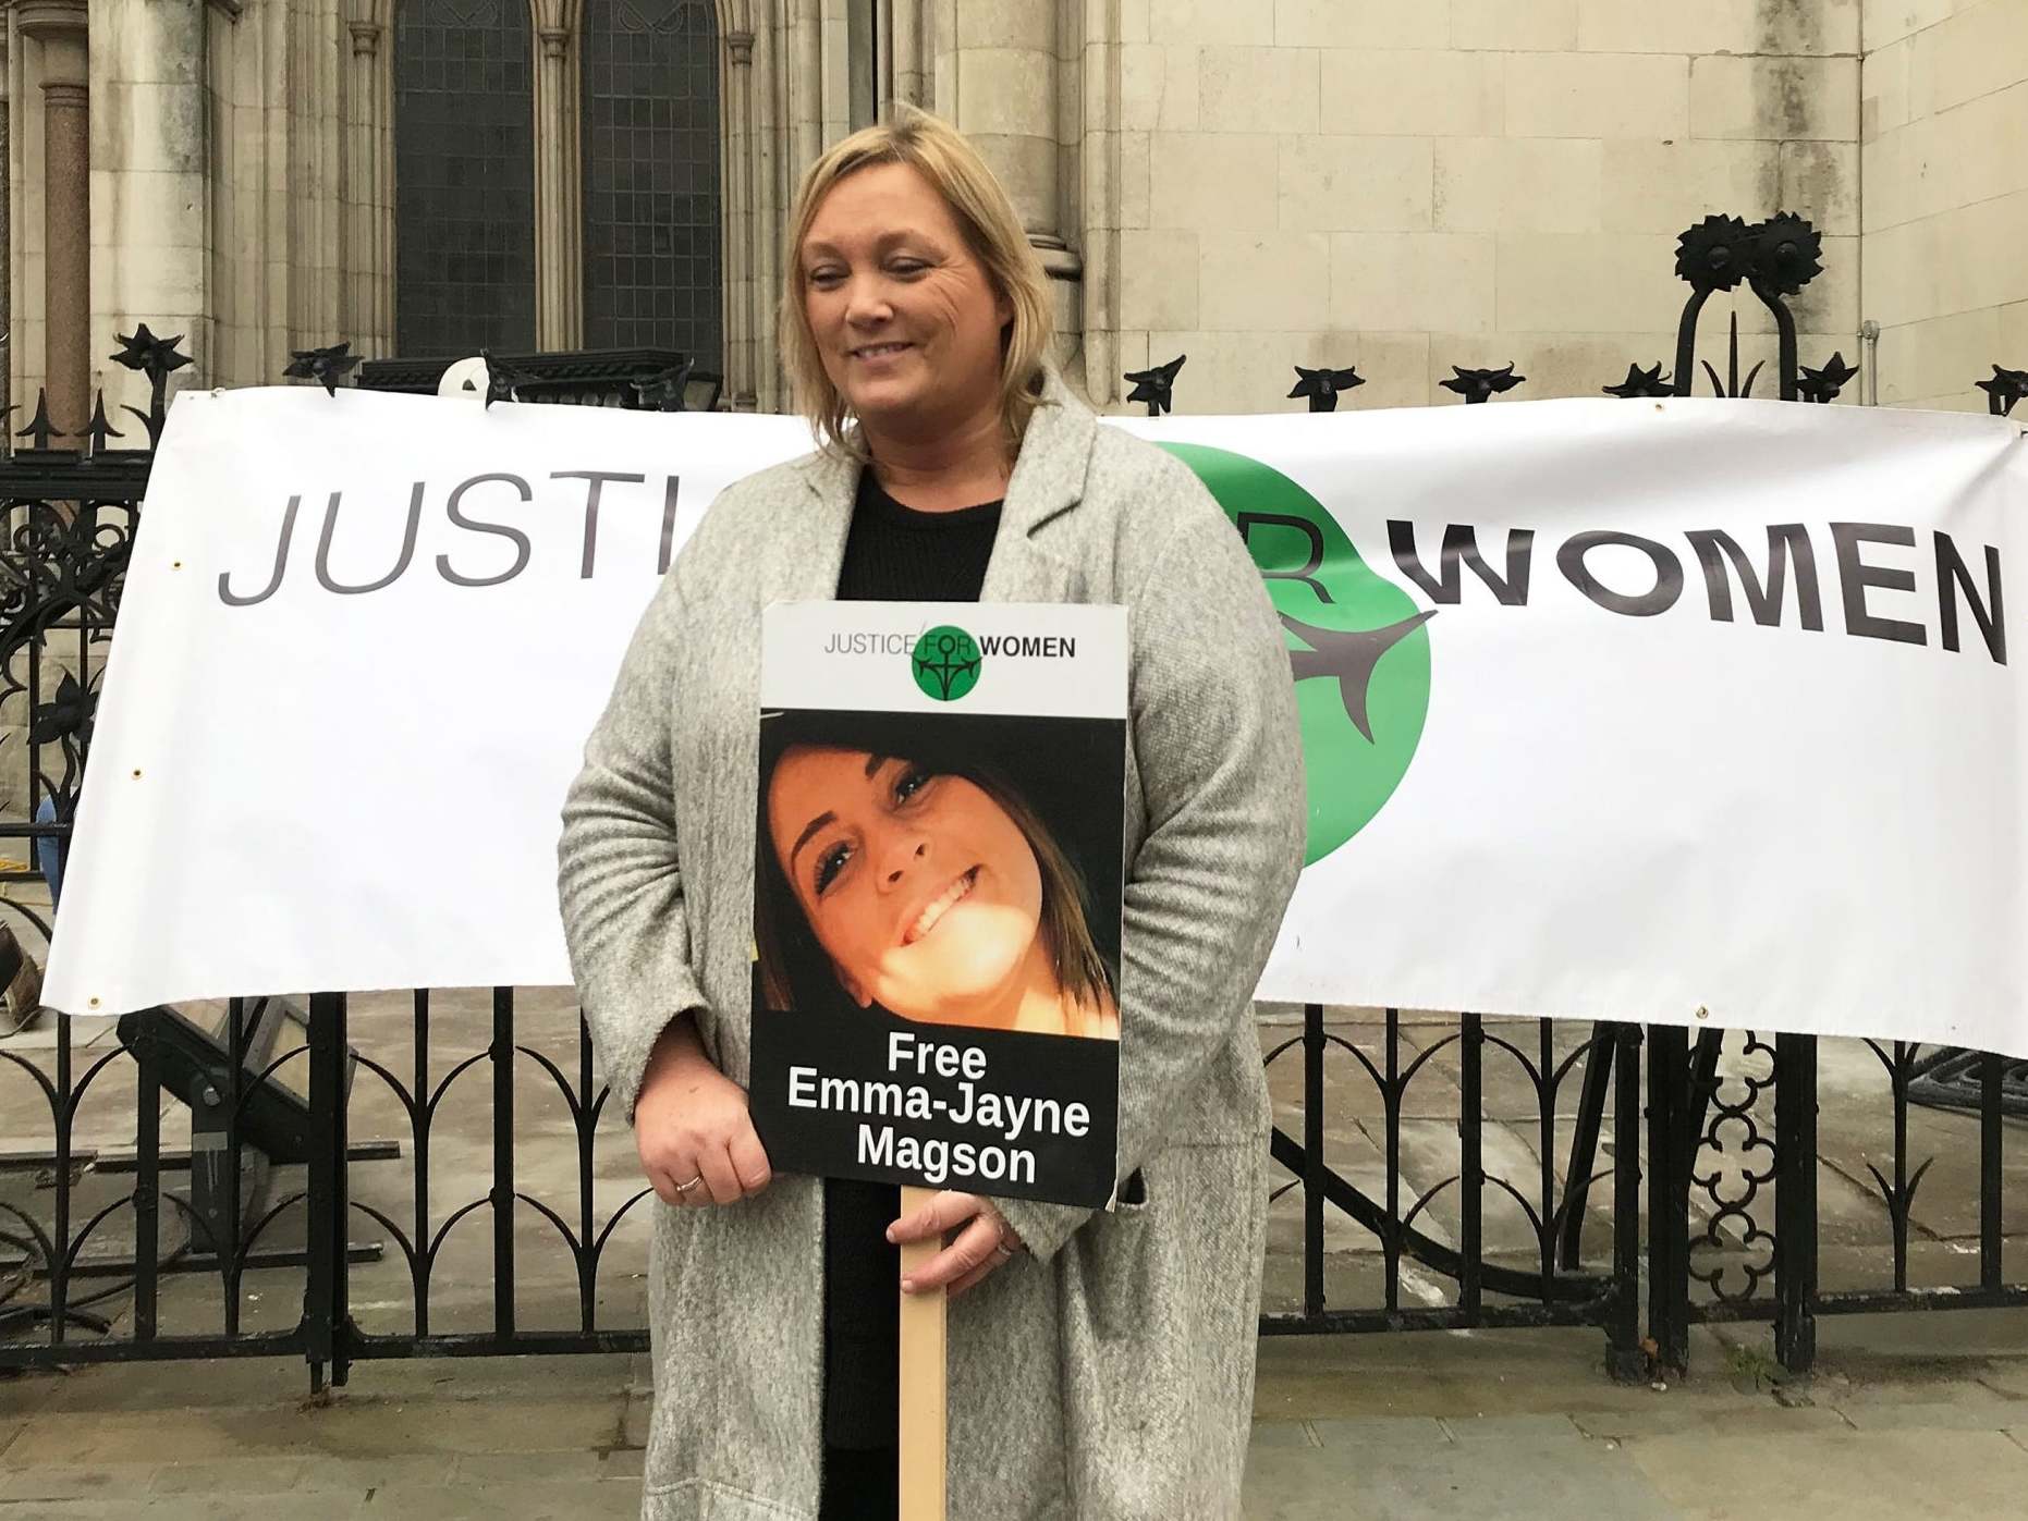
<svg viewBox="0 0 2028 1521">
<path fill-rule="evenodd" d="M 43 302 L 49 416 L 91 418 L 91 118 L 85 0 L 24 0 L 16 26 L 43 45 Z"/>
</svg>

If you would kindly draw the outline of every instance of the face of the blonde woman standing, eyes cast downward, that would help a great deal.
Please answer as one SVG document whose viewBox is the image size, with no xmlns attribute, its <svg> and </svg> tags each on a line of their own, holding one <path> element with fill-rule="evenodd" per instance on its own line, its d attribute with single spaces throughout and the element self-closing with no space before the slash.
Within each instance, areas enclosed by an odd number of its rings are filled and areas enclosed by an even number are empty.
<svg viewBox="0 0 2028 1521">
<path fill-rule="evenodd" d="M 998 410 L 1012 306 L 911 164 L 872 164 L 834 185 L 799 260 L 823 373 L 860 422 L 921 434 Z"/>
</svg>

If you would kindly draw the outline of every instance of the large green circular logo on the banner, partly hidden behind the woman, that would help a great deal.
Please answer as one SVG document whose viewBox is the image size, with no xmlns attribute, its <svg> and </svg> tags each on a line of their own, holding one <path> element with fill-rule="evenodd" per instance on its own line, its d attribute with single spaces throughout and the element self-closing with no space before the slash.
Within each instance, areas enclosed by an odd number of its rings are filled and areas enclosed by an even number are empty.
<svg viewBox="0 0 2028 1521">
<path fill-rule="evenodd" d="M 1324 505 L 1280 470 L 1205 444 L 1162 444 L 1233 519 L 1282 614 L 1302 714 L 1318 862 L 1393 797 L 1430 714 L 1432 612 L 1379 576 Z"/>
</svg>

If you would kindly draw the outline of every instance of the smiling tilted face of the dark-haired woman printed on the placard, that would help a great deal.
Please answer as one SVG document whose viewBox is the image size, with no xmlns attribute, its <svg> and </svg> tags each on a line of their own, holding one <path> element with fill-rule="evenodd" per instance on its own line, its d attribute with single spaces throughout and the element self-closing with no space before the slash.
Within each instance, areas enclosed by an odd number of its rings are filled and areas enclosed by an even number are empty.
<svg viewBox="0 0 2028 1521">
<path fill-rule="evenodd" d="M 767 815 L 775 860 L 860 1008 L 953 1022 L 1018 986 L 1042 874 L 982 787 L 803 744 L 775 767 Z"/>
</svg>

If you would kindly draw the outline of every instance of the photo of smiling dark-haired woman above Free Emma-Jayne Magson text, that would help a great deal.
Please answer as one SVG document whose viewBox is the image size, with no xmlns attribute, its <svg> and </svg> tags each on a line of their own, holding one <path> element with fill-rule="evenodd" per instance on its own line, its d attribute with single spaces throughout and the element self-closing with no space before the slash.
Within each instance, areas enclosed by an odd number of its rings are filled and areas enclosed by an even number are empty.
<svg viewBox="0 0 2028 1521">
<path fill-rule="evenodd" d="M 754 949 L 769 1008 L 1119 1038 L 1117 807 L 1107 854 L 1107 819 L 1061 785 L 1091 726 L 1020 722 L 1028 742 L 1010 750 L 994 720 L 763 716 Z M 1059 742 L 1038 744 L 1053 722 Z M 1117 724 L 1095 728 L 1117 744 Z M 1057 785 L 1022 775 L 1038 756 L 1063 763 Z"/>
</svg>

